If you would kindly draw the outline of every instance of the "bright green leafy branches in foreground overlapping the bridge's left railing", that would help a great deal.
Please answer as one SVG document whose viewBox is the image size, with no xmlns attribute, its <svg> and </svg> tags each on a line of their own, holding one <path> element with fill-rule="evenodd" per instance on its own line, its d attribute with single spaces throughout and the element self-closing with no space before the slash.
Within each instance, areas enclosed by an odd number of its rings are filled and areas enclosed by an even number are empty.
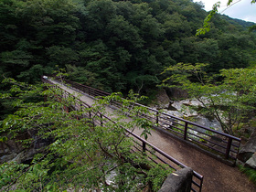
<svg viewBox="0 0 256 192">
<path fill-rule="evenodd" d="M 123 100 L 114 93 L 96 101 L 91 108 L 66 112 L 63 109 L 77 101 L 71 95 L 62 98 L 59 89 L 49 87 L 43 91 L 41 86 L 16 80 L 5 83 L 11 83 L 10 91 L 1 97 L 15 99 L 13 104 L 18 110 L 1 123 L 1 135 L 7 133 L 8 139 L 16 139 L 27 148 L 43 140 L 48 140 L 48 145 L 35 149 L 37 155 L 29 164 L 0 165 L 0 191 L 13 187 L 15 191 L 141 191 L 144 187 L 157 191 L 171 172 L 165 165 L 155 165 L 140 151 L 131 153 L 135 144 L 125 129 L 133 132 L 134 127 L 141 128 L 146 137 L 150 128 L 148 121 L 137 117 L 138 112 L 147 110 L 131 105 L 133 99 L 138 100 L 132 93 L 131 99 Z M 24 100 L 43 99 L 46 95 L 47 102 Z M 123 103 L 121 112 L 112 117 L 116 123 L 95 123 L 101 121 L 100 112 L 107 115 L 104 106 L 110 101 Z M 84 115 L 89 112 L 92 115 Z M 125 123 L 123 112 L 129 112 L 132 121 Z M 16 136 L 22 133 L 30 136 L 18 141 Z M 0 139 L 6 142 L 5 137 Z"/>
</svg>

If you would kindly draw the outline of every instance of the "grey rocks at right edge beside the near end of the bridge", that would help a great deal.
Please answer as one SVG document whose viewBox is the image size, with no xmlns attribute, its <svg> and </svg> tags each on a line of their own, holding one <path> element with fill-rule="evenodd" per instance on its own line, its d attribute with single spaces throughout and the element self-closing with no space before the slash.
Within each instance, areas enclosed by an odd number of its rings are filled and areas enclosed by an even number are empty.
<svg viewBox="0 0 256 192">
<path fill-rule="evenodd" d="M 251 134 L 248 142 L 241 147 L 238 159 L 245 165 L 256 168 L 256 130 Z"/>
</svg>

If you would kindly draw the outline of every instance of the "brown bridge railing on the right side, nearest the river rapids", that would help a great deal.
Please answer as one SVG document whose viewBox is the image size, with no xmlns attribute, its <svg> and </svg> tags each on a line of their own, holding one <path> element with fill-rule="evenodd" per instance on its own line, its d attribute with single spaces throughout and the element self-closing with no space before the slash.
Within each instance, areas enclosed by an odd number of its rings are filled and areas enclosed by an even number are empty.
<svg viewBox="0 0 256 192">
<path fill-rule="evenodd" d="M 73 82 L 71 80 L 65 80 L 65 82 L 72 88 L 85 92 L 92 97 L 110 95 L 110 93 L 105 91 L 99 91 L 97 89 L 81 85 L 80 83 Z M 117 102 L 113 102 L 112 104 L 116 107 L 119 107 L 119 103 Z M 134 104 L 138 106 L 144 106 L 139 103 Z M 156 123 L 157 127 L 162 128 L 163 130 L 170 133 L 174 133 L 176 136 L 188 142 L 197 144 L 199 147 L 211 151 L 213 155 L 217 153 L 218 155 L 221 155 L 228 160 L 233 162 L 236 161 L 240 149 L 240 138 L 227 133 L 216 131 L 197 123 L 189 122 L 165 112 L 160 112 L 149 107 L 147 108 L 151 115 L 141 115 L 152 123 Z"/>
</svg>

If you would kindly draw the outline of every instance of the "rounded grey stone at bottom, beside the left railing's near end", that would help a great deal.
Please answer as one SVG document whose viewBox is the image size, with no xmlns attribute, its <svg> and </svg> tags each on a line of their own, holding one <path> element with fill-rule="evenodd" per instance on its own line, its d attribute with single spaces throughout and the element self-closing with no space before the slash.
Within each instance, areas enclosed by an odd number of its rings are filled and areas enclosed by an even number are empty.
<svg viewBox="0 0 256 192">
<path fill-rule="evenodd" d="M 190 192 L 193 170 L 189 167 L 170 174 L 158 192 Z"/>
</svg>

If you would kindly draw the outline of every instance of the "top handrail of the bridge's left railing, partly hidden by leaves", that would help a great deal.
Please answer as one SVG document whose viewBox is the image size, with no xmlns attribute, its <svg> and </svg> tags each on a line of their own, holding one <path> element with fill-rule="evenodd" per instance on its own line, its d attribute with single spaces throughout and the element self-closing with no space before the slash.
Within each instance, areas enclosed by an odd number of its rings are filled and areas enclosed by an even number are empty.
<svg viewBox="0 0 256 192">
<path fill-rule="evenodd" d="M 51 80 L 47 80 L 47 79 L 43 79 L 42 78 L 42 81 L 45 82 L 45 83 L 49 83 L 49 84 L 54 84 Z M 60 87 L 59 87 L 60 88 Z M 61 89 L 61 88 L 60 88 Z M 61 89 L 63 90 L 63 89 Z M 66 94 L 69 94 L 70 93 L 68 91 L 65 91 L 65 95 Z M 76 98 L 74 95 L 72 95 L 72 97 L 76 100 L 76 101 L 79 101 L 80 103 L 83 103 L 87 108 L 91 108 L 91 105 L 87 104 L 86 102 L 84 101 L 81 101 L 80 99 Z M 78 110 L 78 109 L 75 109 L 75 110 Z M 112 119 L 110 119 L 109 117 L 105 116 L 104 114 L 102 114 L 101 112 L 97 112 L 97 115 L 100 115 L 101 117 L 101 124 L 102 124 L 102 118 L 106 119 L 107 121 L 109 122 L 112 122 L 112 123 L 116 123 L 114 121 L 112 121 Z M 91 116 L 91 114 L 90 114 Z M 124 128 L 124 127 L 123 127 Z M 143 138 L 141 138 L 140 136 L 138 136 L 137 134 L 131 132 L 130 130 L 128 129 L 125 129 L 124 130 L 131 134 L 134 138 L 136 138 L 137 140 L 141 141 L 142 142 L 142 146 L 143 146 L 143 152 L 146 151 L 146 145 L 151 147 L 153 150 L 155 150 L 155 152 L 157 152 L 158 154 L 164 156 L 166 159 L 168 159 L 169 161 L 173 162 L 175 165 L 177 165 L 178 167 L 187 167 L 187 165 L 184 165 L 182 164 L 181 162 L 177 161 L 174 157 L 170 156 L 170 155 L 167 155 L 164 151 L 158 149 L 154 144 L 150 144 L 149 142 L 147 142 L 146 140 L 144 140 Z M 176 168 L 172 165 L 170 165 L 169 163 L 165 162 L 159 155 L 155 155 L 158 159 L 160 159 L 163 163 L 169 165 L 170 167 L 174 168 L 176 170 Z M 148 156 L 150 158 L 150 156 Z M 155 161 L 154 161 L 155 162 Z M 156 163 L 156 162 L 155 162 Z M 196 177 L 196 178 L 194 178 Z M 201 192 L 202 190 L 202 186 L 203 186 L 203 179 L 204 179 L 204 176 L 201 176 L 200 174 L 198 174 L 196 171 L 193 170 L 193 179 L 192 179 L 192 190 L 193 191 L 199 191 Z M 199 182 L 199 183 L 198 183 Z M 197 189 L 195 189 L 194 187 L 197 187 Z"/>
</svg>

